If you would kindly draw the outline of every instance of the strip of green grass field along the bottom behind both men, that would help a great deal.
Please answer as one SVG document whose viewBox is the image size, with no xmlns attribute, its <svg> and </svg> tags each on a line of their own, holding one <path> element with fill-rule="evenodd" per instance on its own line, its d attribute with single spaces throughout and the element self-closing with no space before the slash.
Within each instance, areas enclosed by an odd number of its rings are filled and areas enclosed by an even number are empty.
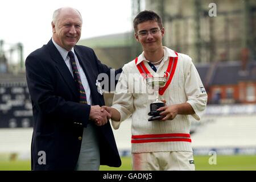
<svg viewBox="0 0 256 182">
<path fill-rule="evenodd" d="M 210 156 L 194 156 L 197 171 L 256 171 L 256 155 L 222 155 L 217 156 L 216 164 L 210 165 Z M 30 170 L 30 161 L 0 161 L 0 171 Z M 101 166 L 101 171 L 130 171 L 131 158 L 123 157 L 119 168 Z"/>
</svg>

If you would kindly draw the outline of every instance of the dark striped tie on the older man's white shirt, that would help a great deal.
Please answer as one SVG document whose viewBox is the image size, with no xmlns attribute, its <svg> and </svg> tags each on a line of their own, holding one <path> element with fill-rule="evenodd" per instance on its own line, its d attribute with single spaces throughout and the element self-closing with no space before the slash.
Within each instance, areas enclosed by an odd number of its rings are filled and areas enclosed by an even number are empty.
<svg viewBox="0 0 256 182">
<path fill-rule="evenodd" d="M 71 63 L 72 71 L 73 71 L 74 80 L 76 82 L 77 89 L 79 90 L 79 93 L 80 93 L 79 94 L 80 95 L 80 104 L 87 104 L 86 94 L 85 94 L 84 86 L 82 86 L 79 71 L 77 69 L 75 55 L 72 51 L 69 51 L 68 56 L 70 58 L 70 63 Z"/>
</svg>

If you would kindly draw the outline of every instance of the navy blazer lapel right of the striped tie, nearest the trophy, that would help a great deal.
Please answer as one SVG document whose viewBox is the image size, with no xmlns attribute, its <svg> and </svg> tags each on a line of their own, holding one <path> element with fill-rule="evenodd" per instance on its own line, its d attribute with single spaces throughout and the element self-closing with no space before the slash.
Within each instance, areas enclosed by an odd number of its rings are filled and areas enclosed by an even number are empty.
<svg viewBox="0 0 256 182">
<path fill-rule="evenodd" d="M 90 65 L 90 61 L 86 59 L 86 57 L 82 56 L 82 53 L 77 51 L 77 49 L 74 47 L 75 53 L 77 56 L 77 59 L 79 60 L 79 63 L 84 70 L 85 76 L 88 80 L 88 84 L 90 86 L 90 94 L 92 96 L 93 104 L 102 103 L 98 97 L 98 91 L 96 86 L 96 80 L 97 80 L 97 70 L 94 70 L 92 65 Z M 103 104 L 103 103 L 102 103 Z"/>
</svg>

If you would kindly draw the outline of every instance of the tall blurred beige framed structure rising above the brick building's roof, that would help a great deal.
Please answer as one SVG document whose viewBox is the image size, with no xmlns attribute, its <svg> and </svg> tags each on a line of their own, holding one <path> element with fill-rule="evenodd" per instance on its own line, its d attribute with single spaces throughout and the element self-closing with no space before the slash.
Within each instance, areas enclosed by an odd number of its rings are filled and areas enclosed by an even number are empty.
<svg viewBox="0 0 256 182">
<path fill-rule="evenodd" d="M 138 1 L 138 0 L 134 0 Z M 163 18 L 164 45 L 196 63 L 230 61 L 249 49 L 256 60 L 256 1 L 144 0 L 145 9 Z"/>
</svg>

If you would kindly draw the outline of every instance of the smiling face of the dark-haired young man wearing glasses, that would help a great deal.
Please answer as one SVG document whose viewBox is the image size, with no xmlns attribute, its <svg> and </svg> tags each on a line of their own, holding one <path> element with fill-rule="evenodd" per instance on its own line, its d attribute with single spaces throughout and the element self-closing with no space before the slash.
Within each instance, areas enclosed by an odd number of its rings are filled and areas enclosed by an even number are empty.
<svg viewBox="0 0 256 182">
<path fill-rule="evenodd" d="M 144 51 L 154 52 L 162 48 L 162 38 L 164 36 L 164 28 L 160 29 L 157 22 L 150 20 L 139 23 L 135 38 L 141 43 Z"/>
</svg>

